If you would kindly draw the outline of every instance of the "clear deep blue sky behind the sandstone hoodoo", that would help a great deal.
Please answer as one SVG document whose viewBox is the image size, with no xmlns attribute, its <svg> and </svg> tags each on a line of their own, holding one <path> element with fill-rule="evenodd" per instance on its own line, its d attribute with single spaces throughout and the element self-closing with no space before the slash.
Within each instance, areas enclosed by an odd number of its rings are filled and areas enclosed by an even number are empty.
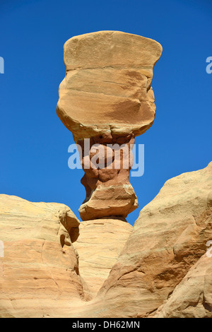
<svg viewBox="0 0 212 332">
<path fill-rule="evenodd" d="M 1 0 L 0 192 L 28 201 L 65 203 L 78 216 L 82 170 L 69 170 L 71 133 L 56 114 L 65 75 L 63 45 L 74 35 L 119 30 L 163 45 L 155 65 L 157 114 L 146 134 L 145 173 L 131 178 L 139 209 L 167 179 L 199 170 L 211 156 L 212 1 Z"/>
</svg>

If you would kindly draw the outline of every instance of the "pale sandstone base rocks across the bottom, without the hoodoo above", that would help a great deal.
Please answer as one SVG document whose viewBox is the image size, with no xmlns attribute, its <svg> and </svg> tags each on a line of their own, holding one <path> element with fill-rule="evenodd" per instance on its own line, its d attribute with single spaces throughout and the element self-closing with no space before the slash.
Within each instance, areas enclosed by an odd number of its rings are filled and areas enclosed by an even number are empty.
<svg viewBox="0 0 212 332">
<path fill-rule="evenodd" d="M 0 195 L 0 317 L 212 318 L 212 162 L 170 179 L 134 229 Z"/>
</svg>

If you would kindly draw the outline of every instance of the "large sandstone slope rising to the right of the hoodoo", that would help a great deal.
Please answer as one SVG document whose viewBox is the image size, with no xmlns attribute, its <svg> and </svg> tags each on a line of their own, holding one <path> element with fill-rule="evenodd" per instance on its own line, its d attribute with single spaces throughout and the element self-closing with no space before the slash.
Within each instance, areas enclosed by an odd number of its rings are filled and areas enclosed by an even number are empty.
<svg viewBox="0 0 212 332">
<path fill-rule="evenodd" d="M 160 316 L 211 317 L 211 239 L 212 162 L 170 179 L 143 208 L 86 315 L 154 316 L 169 299 Z"/>
</svg>

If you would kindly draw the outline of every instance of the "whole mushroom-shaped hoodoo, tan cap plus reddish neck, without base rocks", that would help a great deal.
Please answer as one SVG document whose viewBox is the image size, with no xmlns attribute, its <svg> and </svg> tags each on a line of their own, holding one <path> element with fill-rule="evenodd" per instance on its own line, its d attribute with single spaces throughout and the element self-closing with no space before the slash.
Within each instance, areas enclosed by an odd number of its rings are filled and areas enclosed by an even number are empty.
<svg viewBox="0 0 212 332">
<path fill-rule="evenodd" d="M 66 77 L 59 86 L 57 114 L 83 149 L 82 220 L 126 218 L 138 207 L 129 183 L 131 150 L 134 137 L 148 130 L 155 119 L 151 81 L 161 53 L 158 42 L 118 31 L 72 37 L 64 45 Z M 88 150 L 83 148 L 86 138 L 90 139 Z M 95 155 L 98 165 L 92 160 Z"/>
</svg>

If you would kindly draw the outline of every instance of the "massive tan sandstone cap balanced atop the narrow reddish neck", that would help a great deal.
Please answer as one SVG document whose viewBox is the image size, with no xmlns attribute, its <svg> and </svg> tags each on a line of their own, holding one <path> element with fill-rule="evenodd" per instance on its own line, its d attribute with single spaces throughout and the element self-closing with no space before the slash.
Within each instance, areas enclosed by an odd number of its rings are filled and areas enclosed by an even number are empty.
<svg viewBox="0 0 212 332">
<path fill-rule="evenodd" d="M 92 32 L 65 43 L 57 114 L 75 141 L 138 136 L 153 124 L 151 81 L 161 53 L 158 42 L 119 31 Z"/>
</svg>

